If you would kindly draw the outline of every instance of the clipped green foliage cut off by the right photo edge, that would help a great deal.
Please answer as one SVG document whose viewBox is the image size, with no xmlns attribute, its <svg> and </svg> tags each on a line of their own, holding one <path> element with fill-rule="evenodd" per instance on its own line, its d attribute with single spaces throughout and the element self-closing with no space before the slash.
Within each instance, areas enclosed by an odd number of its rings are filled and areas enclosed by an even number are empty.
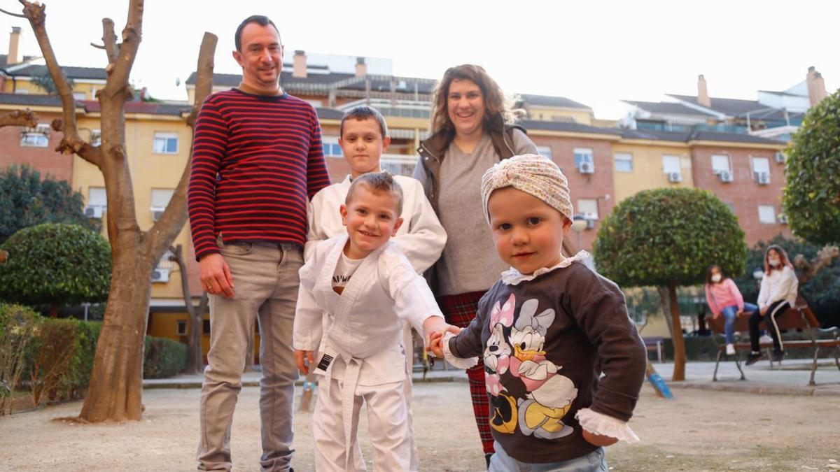
<svg viewBox="0 0 840 472">
<path fill-rule="evenodd" d="M 785 165 L 790 228 L 815 244 L 840 244 L 840 90 L 806 113 Z"/>
</svg>

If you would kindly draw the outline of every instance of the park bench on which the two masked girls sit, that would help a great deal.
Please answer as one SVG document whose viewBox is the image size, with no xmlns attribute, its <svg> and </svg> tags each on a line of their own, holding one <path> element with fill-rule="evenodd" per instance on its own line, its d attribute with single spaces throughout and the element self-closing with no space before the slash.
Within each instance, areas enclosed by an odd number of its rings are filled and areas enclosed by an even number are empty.
<svg viewBox="0 0 840 472">
<path fill-rule="evenodd" d="M 749 333 L 749 316 L 751 313 L 742 313 L 735 321 L 735 332 L 736 333 Z M 808 385 L 816 385 L 814 382 L 814 374 L 816 373 L 816 361 L 820 354 L 820 348 L 827 348 L 832 349 L 832 353 L 834 354 L 834 362 L 837 364 L 837 369 L 840 369 L 840 333 L 838 333 L 838 328 L 820 328 L 820 322 L 816 319 L 814 312 L 811 312 L 811 308 L 808 307 L 808 304 L 805 302 L 803 298 L 799 298 L 796 300 L 796 306 L 789 308 L 787 311 L 782 313 L 780 317 L 776 318 L 777 323 L 779 324 L 780 330 L 801 330 L 802 332 L 806 333 L 810 339 L 797 339 L 797 340 L 784 340 L 783 342 L 785 345 L 785 350 L 792 349 L 792 348 L 809 348 L 812 349 L 813 352 L 813 359 L 814 362 L 811 364 L 811 381 L 808 382 Z M 716 334 L 723 334 L 724 333 L 724 324 L 725 319 L 724 317 L 717 317 L 717 318 L 707 318 L 706 323 L 708 323 L 709 328 L 713 333 Z M 760 329 L 767 329 L 767 326 L 762 322 L 759 325 Z M 818 335 L 821 333 L 831 333 L 831 338 L 818 338 Z M 748 339 L 748 338 L 747 338 Z M 761 343 L 761 349 L 767 349 L 769 353 L 769 349 L 773 348 L 773 343 Z M 738 371 L 741 373 L 741 380 L 745 380 L 746 377 L 743 375 L 743 370 L 741 369 L 741 354 L 748 354 L 752 349 L 748 342 L 737 342 L 734 344 L 735 346 L 735 355 L 732 356 L 735 361 L 735 365 L 738 367 Z M 726 343 L 722 343 L 717 347 L 717 360 L 715 361 L 715 373 L 712 376 L 712 381 L 717 381 L 717 367 L 721 363 L 721 358 L 723 355 L 726 355 Z M 768 359 L 770 359 L 770 368 L 774 367 L 773 357 L 768 355 Z M 781 364 L 781 363 L 779 363 Z"/>
</svg>

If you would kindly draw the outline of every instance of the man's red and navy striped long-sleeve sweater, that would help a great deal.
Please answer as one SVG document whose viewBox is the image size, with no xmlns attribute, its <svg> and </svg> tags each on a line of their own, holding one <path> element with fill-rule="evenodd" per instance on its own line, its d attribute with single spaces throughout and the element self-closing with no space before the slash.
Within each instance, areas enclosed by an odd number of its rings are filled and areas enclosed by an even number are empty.
<svg viewBox="0 0 840 472">
<path fill-rule="evenodd" d="M 225 243 L 303 246 L 307 201 L 328 186 L 321 127 L 300 98 L 213 93 L 198 113 L 187 190 L 196 259 Z"/>
</svg>

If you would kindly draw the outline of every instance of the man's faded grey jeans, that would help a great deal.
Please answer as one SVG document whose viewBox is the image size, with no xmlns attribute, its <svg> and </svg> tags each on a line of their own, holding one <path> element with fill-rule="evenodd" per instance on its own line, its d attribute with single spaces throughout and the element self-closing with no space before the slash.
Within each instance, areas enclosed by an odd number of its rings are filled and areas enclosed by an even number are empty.
<svg viewBox="0 0 840 472">
<path fill-rule="evenodd" d="M 291 330 L 302 249 L 294 244 L 223 244 L 234 278 L 233 298 L 210 296 L 210 351 L 201 399 L 198 469 L 230 470 L 230 426 L 255 318 L 260 325 L 262 470 L 288 470 L 291 412 L 297 380 Z"/>
</svg>

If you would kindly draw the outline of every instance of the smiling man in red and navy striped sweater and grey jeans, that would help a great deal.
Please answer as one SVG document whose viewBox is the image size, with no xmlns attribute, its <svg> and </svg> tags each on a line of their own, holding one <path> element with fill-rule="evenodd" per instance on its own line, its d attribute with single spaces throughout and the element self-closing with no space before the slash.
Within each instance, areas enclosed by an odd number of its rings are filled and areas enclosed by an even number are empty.
<svg viewBox="0 0 840 472">
<path fill-rule="evenodd" d="M 289 470 L 297 367 L 291 349 L 307 202 L 329 185 L 315 110 L 280 87 L 283 45 L 269 18 L 246 18 L 242 83 L 198 114 L 187 191 L 192 243 L 210 294 L 210 351 L 198 469 L 229 470 L 230 426 L 249 334 L 260 327 L 262 470 Z"/>
</svg>

